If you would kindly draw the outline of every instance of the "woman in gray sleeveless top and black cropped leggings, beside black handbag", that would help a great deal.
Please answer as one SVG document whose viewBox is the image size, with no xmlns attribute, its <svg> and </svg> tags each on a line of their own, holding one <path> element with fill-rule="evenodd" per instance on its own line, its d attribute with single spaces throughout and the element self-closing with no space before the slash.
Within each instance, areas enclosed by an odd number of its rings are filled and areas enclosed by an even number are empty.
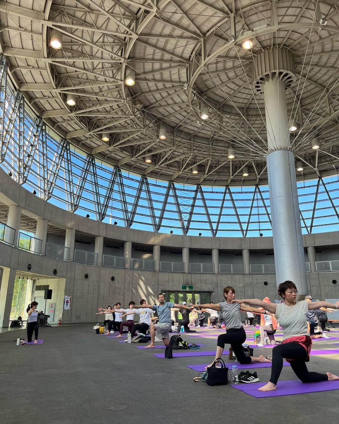
<svg viewBox="0 0 339 424">
<path fill-rule="evenodd" d="M 225 323 L 226 334 L 220 334 L 217 342 L 217 353 L 215 359 L 221 358 L 222 352 L 225 348 L 225 343 L 229 343 L 232 346 L 233 352 L 236 355 L 236 359 L 241 364 L 249 364 L 251 362 L 271 362 L 262 355 L 259 357 L 245 356 L 242 343 L 246 340 L 246 332 L 242 326 L 240 319 L 240 312 L 254 312 L 256 314 L 263 313 L 258 311 L 256 308 L 251 308 L 245 304 L 232 303 L 235 299 L 236 291 L 234 287 L 227 286 L 224 288 L 225 301 L 216 304 L 203 304 L 194 305 L 201 308 L 209 308 L 222 313 L 222 318 Z M 210 365 L 207 365 L 208 368 Z"/>
</svg>

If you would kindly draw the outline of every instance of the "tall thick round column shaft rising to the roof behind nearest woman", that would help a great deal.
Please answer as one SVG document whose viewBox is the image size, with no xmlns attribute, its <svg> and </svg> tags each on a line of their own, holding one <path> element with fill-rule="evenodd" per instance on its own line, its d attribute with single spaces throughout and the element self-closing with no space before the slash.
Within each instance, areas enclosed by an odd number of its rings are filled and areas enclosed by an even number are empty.
<svg viewBox="0 0 339 424">
<path fill-rule="evenodd" d="M 283 81 L 263 84 L 267 143 L 266 157 L 277 285 L 295 282 L 299 295 L 308 293 L 305 254 L 289 122 Z"/>
</svg>

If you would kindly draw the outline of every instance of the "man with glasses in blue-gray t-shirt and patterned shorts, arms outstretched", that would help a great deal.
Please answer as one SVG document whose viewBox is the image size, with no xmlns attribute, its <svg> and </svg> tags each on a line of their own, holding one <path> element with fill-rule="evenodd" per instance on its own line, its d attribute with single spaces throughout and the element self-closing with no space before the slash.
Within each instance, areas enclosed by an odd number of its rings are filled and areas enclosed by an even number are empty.
<svg viewBox="0 0 339 424">
<path fill-rule="evenodd" d="M 154 347 L 154 338 L 156 337 L 156 332 L 160 334 L 162 341 L 164 342 L 164 345 L 167 346 L 168 343 L 170 343 L 170 329 L 171 329 L 171 308 L 181 308 L 181 309 L 187 309 L 192 310 L 194 309 L 193 306 L 187 307 L 185 305 L 178 305 L 173 302 L 165 302 L 165 296 L 163 293 L 158 294 L 158 305 L 141 305 L 136 306 L 136 308 L 150 308 L 153 309 L 153 311 L 156 311 L 158 313 L 159 317 L 159 323 L 158 324 L 152 324 L 150 326 L 150 333 L 151 333 L 151 342 L 146 347 Z"/>
</svg>

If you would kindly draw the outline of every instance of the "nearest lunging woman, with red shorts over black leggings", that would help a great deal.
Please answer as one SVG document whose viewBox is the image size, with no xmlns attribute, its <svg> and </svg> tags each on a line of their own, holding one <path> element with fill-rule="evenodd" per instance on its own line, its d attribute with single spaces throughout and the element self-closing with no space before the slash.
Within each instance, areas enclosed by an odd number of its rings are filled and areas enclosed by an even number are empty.
<svg viewBox="0 0 339 424">
<path fill-rule="evenodd" d="M 292 281 L 285 281 L 278 286 L 278 295 L 283 303 L 265 303 L 259 299 L 233 300 L 233 303 L 261 306 L 275 314 L 283 329 L 283 343 L 272 349 L 272 369 L 270 381 L 258 390 L 267 392 L 277 390 L 277 382 L 283 369 L 283 358 L 290 363 L 292 370 L 303 383 L 339 380 L 334 374 L 309 372 L 306 362 L 310 360 L 312 339 L 307 331 L 308 311 L 321 307 L 338 309 L 338 304 L 329 302 L 297 301 L 297 287 Z"/>
</svg>

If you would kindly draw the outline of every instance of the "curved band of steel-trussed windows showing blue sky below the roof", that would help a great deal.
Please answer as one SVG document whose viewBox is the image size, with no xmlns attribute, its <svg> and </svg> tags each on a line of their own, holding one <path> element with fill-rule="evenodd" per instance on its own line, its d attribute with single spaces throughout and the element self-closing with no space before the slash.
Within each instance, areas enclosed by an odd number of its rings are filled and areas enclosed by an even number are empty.
<svg viewBox="0 0 339 424">
<path fill-rule="evenodd" d="M 205 187 L 126 173 L 60 139 L 0 68 L 1 166 L 46 201 L 132 228 L 197 235 L 271 235 L 267 187 Z M 338 176 L 298 183 L 304 233 L 339 229 Z"/>
</svg>

